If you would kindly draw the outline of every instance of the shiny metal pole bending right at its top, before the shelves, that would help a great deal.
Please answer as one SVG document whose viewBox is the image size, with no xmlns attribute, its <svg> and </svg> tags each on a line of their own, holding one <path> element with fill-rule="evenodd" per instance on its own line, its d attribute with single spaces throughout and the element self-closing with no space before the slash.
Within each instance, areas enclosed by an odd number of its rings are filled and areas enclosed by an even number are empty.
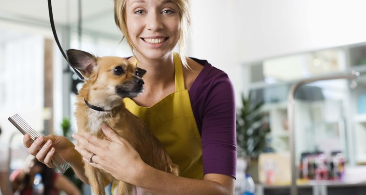
<svg viewBox="0 0 366 195">
<path fill-rule="evenodd" d="M 359 72 L 352 71 L 346 75 L 335 75 L 327 77 L 307 78 L 301 80 L 291 86 L 290 92 L 288 93 L 287 102 L 287 117 L 288 117 L 288 130 L 289 130 L 289 145 L 290 145 L 290 159 L 291 159 L 291 195 L 298 195 L 297 192 L 297 168 L 296 168 L 296 150 L 295 150 L 295 93 L 304 84 L 320 81 L 320 80 L 333 80 L 333 79 L 355 79 L 360 75 Z"/>
</svg>

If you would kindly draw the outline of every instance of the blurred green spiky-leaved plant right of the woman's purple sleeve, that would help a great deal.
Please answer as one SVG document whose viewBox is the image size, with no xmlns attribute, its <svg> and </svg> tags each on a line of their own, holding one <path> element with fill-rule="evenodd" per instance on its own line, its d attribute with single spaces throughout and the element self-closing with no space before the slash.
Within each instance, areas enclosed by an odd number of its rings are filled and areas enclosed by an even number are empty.
<svg viewBox="0 0 366 195">
<path fill-rule="evenodd" d="M 263 105 L 264 102 L 252 98 L 251 93 L 247 98 L 243 94 L 242 108 L 238 110 L 236 119 L 238 157 L 244 158 L 247 164 L 245 172 L 257 182 L 258 156 L 269 150 L 266 137 L 270 129 L 262 111 Z"/>
</svg>

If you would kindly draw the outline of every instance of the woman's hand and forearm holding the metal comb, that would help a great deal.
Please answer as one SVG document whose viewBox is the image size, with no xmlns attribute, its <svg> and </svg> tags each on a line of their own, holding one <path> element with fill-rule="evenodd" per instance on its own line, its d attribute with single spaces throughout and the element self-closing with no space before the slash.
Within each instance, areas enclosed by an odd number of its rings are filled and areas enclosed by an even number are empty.
<svg viewBox="0 0 366 195">
<path fill-rule="evenodd" d="M 84 166 L 81 155 L 74 149 L 75 145 L 62 136 L 40 136 L 33 143 L 30 141 L 29 135 L 23 137 L 23 145 L 28 149 L 29 154 L 36 156 L 36 158 L 46 164 L 50 168 L 55 166 L 51 163 L 51 158 L 55 154 L 55 151 L 59 153 L 67 162 L 70 163 L 75 174 L 81 179 L 82 182 L 88 183 L 88 179 L 84 173 Z M 42 144 L 44 144 L 42 146 Z M 41 148 L 40 151 L 38 149 Z"/>
</svg>

